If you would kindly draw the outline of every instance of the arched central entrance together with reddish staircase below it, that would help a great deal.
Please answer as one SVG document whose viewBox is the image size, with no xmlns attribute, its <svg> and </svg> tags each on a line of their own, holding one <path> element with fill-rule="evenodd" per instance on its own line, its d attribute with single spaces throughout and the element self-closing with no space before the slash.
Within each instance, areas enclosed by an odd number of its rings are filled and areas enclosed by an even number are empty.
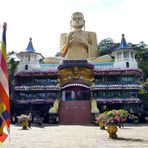
<svg viewBox="0 0 148 148">
<path fill-rule="evenodd" d="M 62 87 L 59 123 L 82 125 L 92 123 L 89 86 L 68 84 Z"/>
</svg>

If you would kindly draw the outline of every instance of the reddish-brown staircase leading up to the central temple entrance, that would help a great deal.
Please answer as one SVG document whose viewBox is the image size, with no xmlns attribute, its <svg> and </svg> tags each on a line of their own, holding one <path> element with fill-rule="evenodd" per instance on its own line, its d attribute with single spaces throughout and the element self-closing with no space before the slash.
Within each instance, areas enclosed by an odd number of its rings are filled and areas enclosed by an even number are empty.
<svg viewBox="0 0 148 148">
<path fill-rule="evenodd" d="M 61 101 L 59 124 L 88 125 L 92 123 L 90 101 Z"/>
</svg>

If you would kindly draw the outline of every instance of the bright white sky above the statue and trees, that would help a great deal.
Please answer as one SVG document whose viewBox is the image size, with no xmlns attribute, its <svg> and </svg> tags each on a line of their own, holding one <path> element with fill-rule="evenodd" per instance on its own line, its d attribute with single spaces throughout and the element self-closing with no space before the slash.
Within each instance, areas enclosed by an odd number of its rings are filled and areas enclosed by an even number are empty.
<svg viewBox="0 0 148 148">
<path fill-rule="evenodd" d="M 21 52 L 29 38 L 44 57 L 60 51 L 60 34 L 70 31 L 74 12 L 82 12 L 85 30 L 97 34 L 97 42 L 112 38 L 120 42 L 148 44 L 147 0 L 0 0 L 0 33 L 7 22 L 7 51 Z"/>
</svg>

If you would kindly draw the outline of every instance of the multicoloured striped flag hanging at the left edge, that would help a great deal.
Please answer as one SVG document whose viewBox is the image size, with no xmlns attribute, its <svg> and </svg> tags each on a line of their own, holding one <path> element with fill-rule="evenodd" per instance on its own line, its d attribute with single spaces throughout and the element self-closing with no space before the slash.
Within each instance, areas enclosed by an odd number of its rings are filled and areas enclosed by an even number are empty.
<svg viewBox="0 0 148 148">
<path fill-rule="evenodd" d="M 6 53 L 6 29 L 7 24 L 4 23 L 0 48 L 0 143 L 3 143 L 8 136 L 6 133 L 4 133 L 4 127 L 6 127 L 8 134 L 10 131 L 10 102 Z"/>
</svg>

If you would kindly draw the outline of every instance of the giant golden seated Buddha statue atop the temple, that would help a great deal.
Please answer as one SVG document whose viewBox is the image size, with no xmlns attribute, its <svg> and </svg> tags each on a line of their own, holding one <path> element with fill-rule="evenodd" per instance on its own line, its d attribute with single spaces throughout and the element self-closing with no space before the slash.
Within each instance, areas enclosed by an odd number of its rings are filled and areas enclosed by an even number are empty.
<svg viewBox="0 0 148 148">
<path fill-rule="evenodd" d="M 98 55 L 97 35 L 95 32 L 85 31 L 85 19 L 81 12 L 71 16 L 72 31 L 62 33 L 60 36 L 59 57 L 45 58 L 45 63 L 59 63 L 63 59 L 88 59 L 94 62 L 110 62 L 110 55 Z"/>
</svg>

